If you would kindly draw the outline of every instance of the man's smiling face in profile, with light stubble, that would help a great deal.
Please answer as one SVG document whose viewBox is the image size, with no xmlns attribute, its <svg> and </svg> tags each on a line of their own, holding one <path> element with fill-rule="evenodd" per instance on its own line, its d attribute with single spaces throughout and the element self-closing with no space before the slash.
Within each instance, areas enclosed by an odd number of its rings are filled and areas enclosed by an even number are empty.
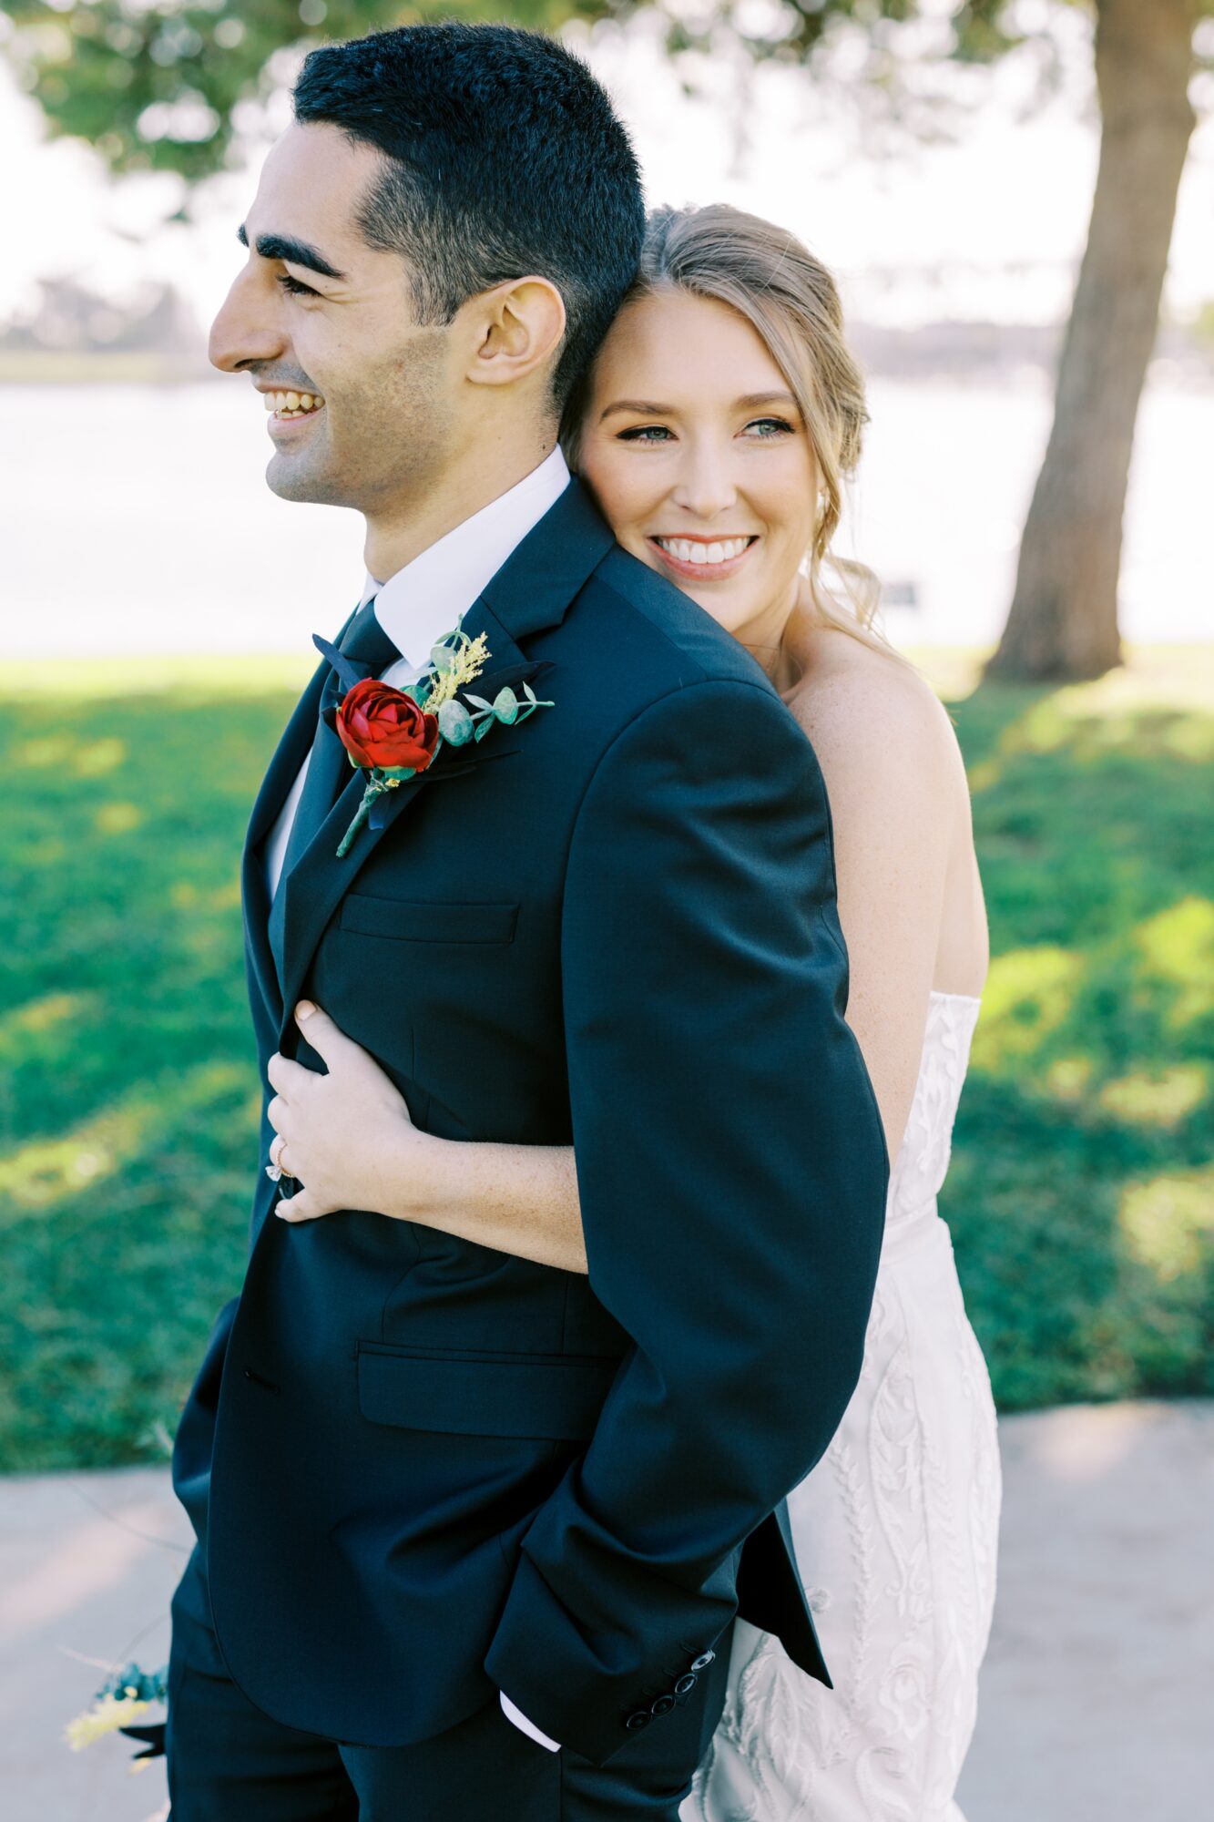
<svg viewBox="0 0 1214 1822">
<path fill-rule="evenodd" d="M 406 512 L 445 465 L 459 381 L 448 330 L 419 328 L 399 253 L 359 235 L 383 169 L 372 146 L 288 128 L 241 230 L 248 261 L 211 324 L 210 357 L 248 374 L 272 410 L 266 481 L 283 499 Z M 312 408 L 306 408 L 308 397 Z"/>
</svg>

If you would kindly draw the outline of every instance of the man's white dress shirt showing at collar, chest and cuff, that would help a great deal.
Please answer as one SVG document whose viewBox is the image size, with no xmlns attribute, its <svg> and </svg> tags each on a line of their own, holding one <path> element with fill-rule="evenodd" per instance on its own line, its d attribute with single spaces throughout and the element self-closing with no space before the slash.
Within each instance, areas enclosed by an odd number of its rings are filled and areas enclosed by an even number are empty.
<svg viewBox="0 0 1214 1822">
<path fill-rule="evenodd" d="M 430 647 L 456 627 L 461 614 L 467 614 L 514 547 L 540 523 L 549 507 L 556 505 L 567 485 L 569 468 L 558 445 L 538 468 L 523 476 L 509 492 L 499 494 L 463 525 L 447 532 L 396 576 L 388 576 L 386 581 L 366 576 L 359 607 L 372 596 L 376 598 L 376 619 L 401 652 L 401 658 L 383 672 L 385 683 L 401 689 L 421 676 L 430 663 Z M 266 842 L 266 884 L 272 900 L 283 873 L 283 858 L 310 758 L 312 751 L 304 754 Z M 560 1753 L 560 1742 L 549 1740 L 547 1733 L 529 1722 L 505 1691 L 501 1691 L 501 1707 L 516 1727 L 538 1740 L 549 1753 Z"/>
</svg>

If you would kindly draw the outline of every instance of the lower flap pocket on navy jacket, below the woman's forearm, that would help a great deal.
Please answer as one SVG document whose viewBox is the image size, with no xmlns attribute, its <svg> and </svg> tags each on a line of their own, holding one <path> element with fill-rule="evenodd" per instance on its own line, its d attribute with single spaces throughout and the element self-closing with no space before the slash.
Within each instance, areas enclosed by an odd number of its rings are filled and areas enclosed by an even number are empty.
<svg viewBox="0 0 1214 1822">
<path fill-rule="evenodd" d="M 359 1341 L 359 1410 L 448 1436 L 589 1441 L 620 1368 L 561 1354 L 436 1354 Z"/>
</svg>

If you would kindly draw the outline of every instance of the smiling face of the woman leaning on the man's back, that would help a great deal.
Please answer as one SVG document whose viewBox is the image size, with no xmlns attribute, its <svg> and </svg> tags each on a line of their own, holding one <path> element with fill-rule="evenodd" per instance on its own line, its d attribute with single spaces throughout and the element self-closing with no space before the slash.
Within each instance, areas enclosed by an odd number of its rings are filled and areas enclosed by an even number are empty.
<svg viewBox="0 0 1214 1822">
<path fill-rule="evenodd" d="M 578 472 L 616 539 L 727 632 L 775 649 L 815 530 L 809 435 L 762 337 L 729 304 L 625 304 L 594 366 Z"/>
</svg>

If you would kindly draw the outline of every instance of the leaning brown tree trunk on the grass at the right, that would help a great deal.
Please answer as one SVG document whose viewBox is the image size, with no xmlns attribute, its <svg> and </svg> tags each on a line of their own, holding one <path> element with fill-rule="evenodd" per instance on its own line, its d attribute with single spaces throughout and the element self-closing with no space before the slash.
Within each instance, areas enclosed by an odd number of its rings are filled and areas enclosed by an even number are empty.
<svg viewBox="0 0 1214 1822">
<path fill-rule="evenodd" d="M 1121 663 L 1121 519 L 1194 128 L 1196 5 L 1097 0 L 1103 129 L 1092 222 L 1063 343 L 1054 428 L 988 678 L 1096 678 Z"/>
</svg>

